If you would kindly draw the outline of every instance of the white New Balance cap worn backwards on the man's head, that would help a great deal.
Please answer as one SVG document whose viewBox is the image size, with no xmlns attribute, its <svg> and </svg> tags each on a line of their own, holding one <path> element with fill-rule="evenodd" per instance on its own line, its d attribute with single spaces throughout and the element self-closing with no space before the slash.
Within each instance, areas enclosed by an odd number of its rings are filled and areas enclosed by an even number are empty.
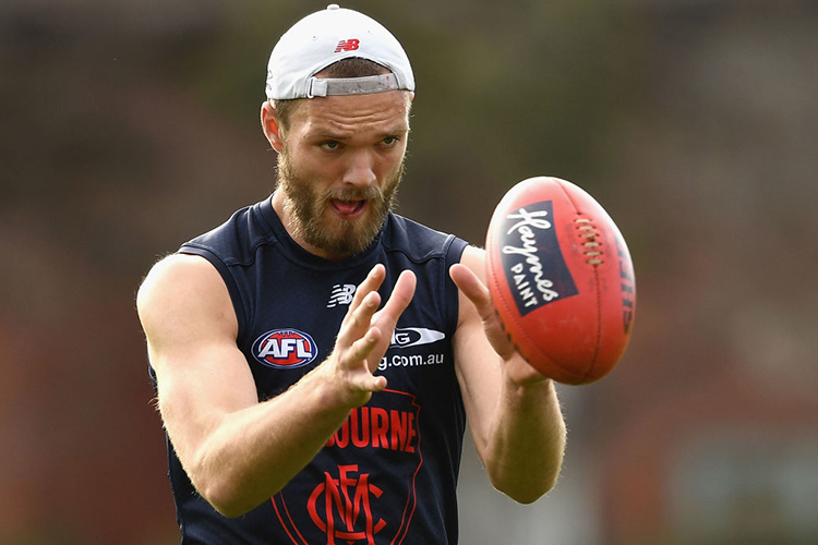
<svg viewBox="0 0 818 545">
<path fill-rule="evenodd" d="M 390 74 L 350 78 L 316 78 L 329 64 L 360 57 L 386 66 Z M 285 100 L 327 95 L 361 95 L 414 90 L 409 58 L 395 36 L 377 21 L 329 4 L 287 31 L 267 64 L 267 98 Z"/>
</svg>

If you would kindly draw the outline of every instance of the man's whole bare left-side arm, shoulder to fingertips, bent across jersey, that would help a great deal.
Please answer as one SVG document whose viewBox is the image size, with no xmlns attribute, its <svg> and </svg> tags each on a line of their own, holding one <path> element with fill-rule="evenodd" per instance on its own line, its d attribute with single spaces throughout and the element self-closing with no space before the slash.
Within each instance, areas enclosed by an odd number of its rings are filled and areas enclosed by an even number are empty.
<svg viewBox="0 0 818 545">
<path fill-rule="evenodd" d="M 220 513 L 269 499 L 321 450 L 352 408 L 386 387 L 373 376 L 414 293 L 404 272 L 381 311 L 376 265 L 358 288 L 327 360 L 284 393 L 258 402 L 236 344 L 227 288 L 204 258 L 169 256 L 151 270 L 136 304 L 156 372 L 158 408 L 191 482 Z M 305 425 L 304 423 L 309 423 Z"/>
</svg>

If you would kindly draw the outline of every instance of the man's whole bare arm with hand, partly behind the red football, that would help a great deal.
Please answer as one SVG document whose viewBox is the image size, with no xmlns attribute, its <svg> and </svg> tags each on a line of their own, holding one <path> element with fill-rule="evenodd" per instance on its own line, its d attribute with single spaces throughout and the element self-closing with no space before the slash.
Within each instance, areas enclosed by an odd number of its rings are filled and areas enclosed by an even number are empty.
<svg viewBox="0 0 818 545">
<path fill-rule="evenodd" d="M 449 269 L 460 290 L 455 366 L 469 429 L 495 488 L 530 504 L 560 474 L 566 431 L 551 379 L 507 341 L 485 287 L 485 253 L 469 246 Z"/>
</svg>

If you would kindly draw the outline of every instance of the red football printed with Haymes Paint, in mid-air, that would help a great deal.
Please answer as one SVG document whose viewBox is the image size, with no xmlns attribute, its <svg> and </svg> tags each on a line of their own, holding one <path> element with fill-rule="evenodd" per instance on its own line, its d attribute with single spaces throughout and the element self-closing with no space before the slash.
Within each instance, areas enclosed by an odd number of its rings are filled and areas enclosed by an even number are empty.
<svg viewBox="0 0 818 545">
<path fill-rule="evenodd" d="M 636 282 L 625 240 L 602 206 L 557 178 L 529 178 L 497 205 L 486 272 L 508 339 L 540 373 L 588 384 L 622 359 Z"/>
</svg>

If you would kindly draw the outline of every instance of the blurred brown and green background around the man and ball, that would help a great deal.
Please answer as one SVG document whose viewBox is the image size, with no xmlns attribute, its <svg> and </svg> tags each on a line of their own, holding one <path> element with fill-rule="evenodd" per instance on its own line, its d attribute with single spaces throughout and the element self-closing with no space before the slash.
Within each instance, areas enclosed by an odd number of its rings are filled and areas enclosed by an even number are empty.
<svg viewBox="0 0 818 545">
<path fill-rule="evenodd" d="M 272 190 L 266 60 L 316 1 L 0 3 L 0 544 L 178 543 L 134 293 Z M 482 244 L 517 181 L 634 256 L 619 366 L 561 387 L 517 506 L 468 447 L 461 543 L 818 542 L 818 2 L 350 0 L 418 81 L 404 215 Z"/>
</svg>

